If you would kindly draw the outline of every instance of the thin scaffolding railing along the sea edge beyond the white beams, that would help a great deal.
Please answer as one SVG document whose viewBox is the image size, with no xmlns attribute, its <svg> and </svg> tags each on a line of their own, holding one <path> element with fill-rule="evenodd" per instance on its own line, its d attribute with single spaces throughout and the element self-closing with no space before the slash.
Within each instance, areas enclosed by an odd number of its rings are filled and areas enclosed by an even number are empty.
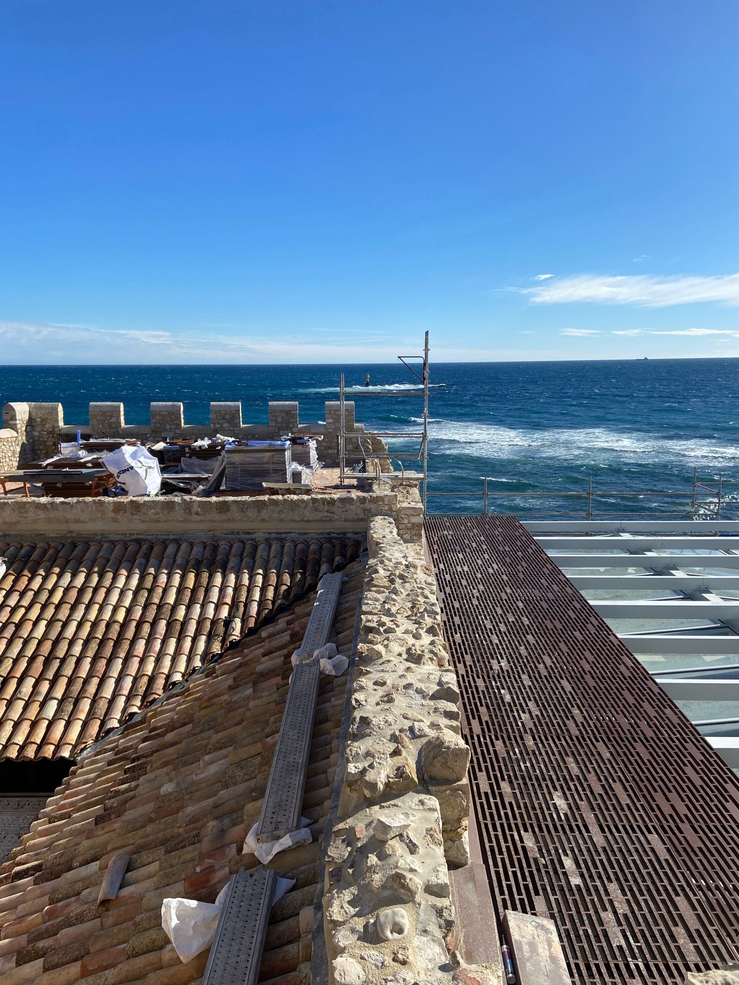
<svg viewBox="0 0 739 985">
<path fill-rule="evenodd" d="M 708 486 L 706 483 L 699 481 L 698 470 L 693 470 L 693 483 L 690 490 L 676 491 L 676 490 L 595 490 L 593 488 L 592 477 L 588 479 L 587 488 L 584 490 L 573 490 L 567 492 L 561 492 L 559 490 L 536 490 L 536 491 L 511 491 L 511 490 L 491 490 L 489 483 L 495 482 L 495 480 L 489 476 L 480 477 L 483 482 L 482 490 L 478 491 L 444 491 L 441 493 L 427 493 L 429 498 L 444 498 L 444 499 L 482 499 L 482 510 L 480 512 L 483 516 L 491 515 L 495 513 L 496 510 L 491 508 L 491 500 L 495 502 L 496 500 L 521 500 L 521 499 L 556 499 L 565 500 L 566 503 L 572 502 L 573 504 L 576 500 L 584 500 L 583 510 L 570 510 L 563 514 L 557 514 L 558 517 L 563 519 L 581 519 L 592 520 L 597 518 L 610 519 L 614 516 L 613 510 L 603 511 L 599 513 L 596 512 L 594 508 L 595 500 L 618 500 L 618 499 L 684 499 L 687 500 L 686 508 L 679 510 L 675 513 L 667 512 L 666 510 L 660 510 L 659 515 L 665 518 L 683 518 L 686 514 L 690 514 L 691 520 L 720 520 L 721 510 L 725 508 L 727 503 L 727 488 L 739 486 L 739 480 L 726 480 L 719 476 L 717 479 L 712 480 L 715 485 Z M 676 504 L 677 505 L 677 504 Z M 739 506 L 739 503 L 737 503 Z M 458 512 L 458 511 L 457 511 Z M 478 512 L 475 510 L 474 512 Z M 506 510 L 510 512 L 510 510 Z M 443 512 L 435 515 L 450 515 Z M 527 516 L 530 514 L 527 512 Z M 628 517 L 624 514 L 619 514 L 623 519 Z M 643 516 L 644 511 L 638 514 L 638 516 Z M 548 510 L 545 514 L 547 519 L 556 519 L 555 515 Z"/>
</svg>

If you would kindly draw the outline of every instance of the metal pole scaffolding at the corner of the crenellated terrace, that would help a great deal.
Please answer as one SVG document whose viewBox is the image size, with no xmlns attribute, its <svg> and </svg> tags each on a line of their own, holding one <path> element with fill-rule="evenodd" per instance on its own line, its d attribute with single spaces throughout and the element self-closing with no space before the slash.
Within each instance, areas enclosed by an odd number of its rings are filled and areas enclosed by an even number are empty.
<svg viewBox="0 0 739 985">
<path fill-rule="evenodd" d="M 429 471 L 429 333 L 426 332 L 424 336 L 424 353 L 422 356 L 398 356 L 398 359 L 403 363 L 403 365 L 409 369 L 417 380 L 421 383 L 419 389 L 414 390 L 379 390 L 372 389 L 372 387 L 353 387 L 349 390 L 346 389 L 344 384 L 344 373 L 341 374 L 339 380 L 339 405 L 340 405 L 340 427 L 339 427 L 339 478 L 340 483 L 343 486 L 344 480 L 347 475 L 352 473 L 349 471 L 348 463 L 357 462 L 362 463 L 366 461 L 384 461 L 384 462 L 398 462 L 400 464 L 401 474 L 405 472 L 403 467 L 404 461 L 415 461 L 419 462 L 422 466 L 422 493 L 421 498 L 424 504 L 424 513 L 426 513 L 426 499 L 427 499 L 427 476 Z M 416 366 L 412 365 L 410 360 L 421 360 L 421 366 L 418 364 Z M 416 370 L 421 368 L 421 374 Z M 356 397 L 392 397 L 397 399 L 398 397 L 423 397 L 424 398 L 424 410 L 422 415 L 422 428 L 418 431 L 373 431 L 377 437 L 381 438 L 400 438 L 403 440 L 417 439 L 421 443 L 419 445 L 419 450 L 417 454 L 393 454 L 388 449 L 387 454 L 375 455 L 372 453 L 371 448 L 368 450 L 362 447 L 363 434 L 361 431 L 347 431 L 346 427 L 346 398 L 351 397 L 354 400 Z M 347 451 L 347 438 L 352 442 L 356 443 L 358 446 L 357 451 Z"/>
</svg>

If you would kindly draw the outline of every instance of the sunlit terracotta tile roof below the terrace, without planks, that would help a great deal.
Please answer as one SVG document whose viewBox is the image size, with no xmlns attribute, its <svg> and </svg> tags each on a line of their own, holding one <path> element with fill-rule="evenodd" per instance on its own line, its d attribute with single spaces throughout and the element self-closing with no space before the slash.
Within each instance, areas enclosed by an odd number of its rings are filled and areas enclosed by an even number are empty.
<svg viewBox="0 0 739 985">
<path fill-rule="evenodd" d="M 78 755 L 360 547 L 0 543 L 0 759 Z"/>
</svg>

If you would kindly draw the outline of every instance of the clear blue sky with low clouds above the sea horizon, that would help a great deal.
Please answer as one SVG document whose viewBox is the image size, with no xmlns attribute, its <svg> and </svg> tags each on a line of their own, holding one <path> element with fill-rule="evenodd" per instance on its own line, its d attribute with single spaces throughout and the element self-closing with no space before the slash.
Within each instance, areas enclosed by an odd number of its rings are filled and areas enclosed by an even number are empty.
<svg viewBox="0 0 739 985">
<path fill-rule="evenodd" d="M 735 0 L 4 0 L 0 361 L 739 355 L 738 48 Z"/>
</svg>

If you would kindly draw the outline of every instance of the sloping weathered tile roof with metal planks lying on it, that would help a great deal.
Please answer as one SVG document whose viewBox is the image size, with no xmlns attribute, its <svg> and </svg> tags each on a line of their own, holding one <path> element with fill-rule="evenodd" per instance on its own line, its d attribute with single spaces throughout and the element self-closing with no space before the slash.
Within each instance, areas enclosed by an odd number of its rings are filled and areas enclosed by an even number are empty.
<svg viewBox="0 0 739 985">
<path fill-rule="evenodd" d="M 344 583 L 331 638 L 349 655 L 363 582 Z M 259 817 L 284 709 L 290 656 L 312 598 L 103 739 L 73 768 L 0 867 L 0 985 L 185 985 L 207 952 L 182 964 L 161 926 L 166 896 L 212 902 Z M 309 981 L 319 858 L 338 759 L 347 677 L 322 678 L 302 814 L 312 842 L 271 866 L 296 886 L 272 909 L 260 980 Z M 131 856 L 115 899 L 98 903 L 105 867 Z M 320 911 L 318 911 L 320 919 Z"/>
</svg>

